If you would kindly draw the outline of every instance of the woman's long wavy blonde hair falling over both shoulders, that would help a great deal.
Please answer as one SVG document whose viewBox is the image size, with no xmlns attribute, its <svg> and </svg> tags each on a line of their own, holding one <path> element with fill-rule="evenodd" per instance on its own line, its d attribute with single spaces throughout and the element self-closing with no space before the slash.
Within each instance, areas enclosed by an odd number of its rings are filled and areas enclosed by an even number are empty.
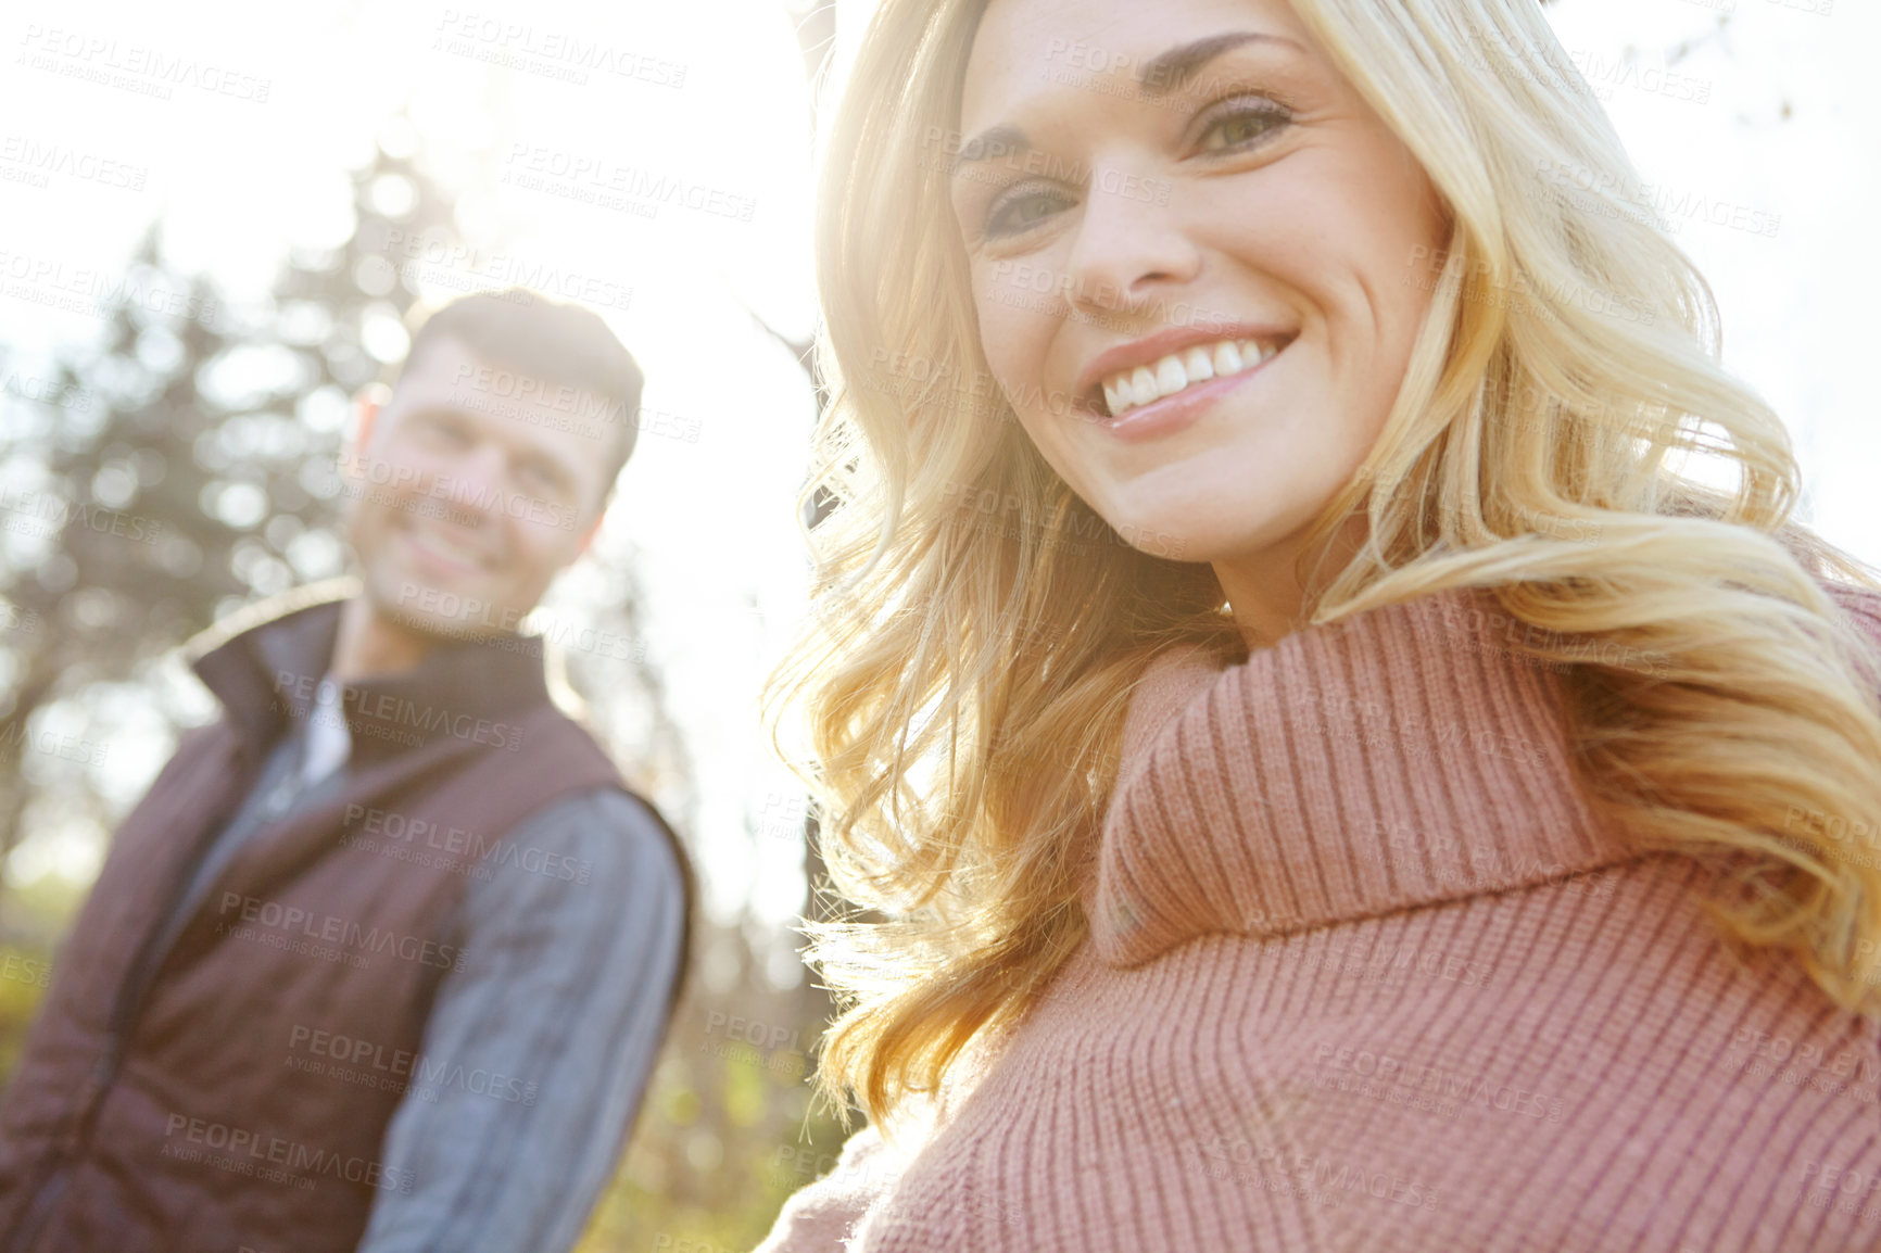
<svg viewBox="0 0 1881 1253">
<path fill-rule="evenodd" d="M 1873 581 L 1791 521 L 1787 435 L 1719 367 L 1710 288 L 1627 194 L 1533 0 L 1292 4 L 1450 222 L 1407 271 L 1433 288 L 1398 401 L 1315 529 L 1362 514 L 1369 538 L 1302 570 L 1311 621 L 1484 589 L 1533 628 L 1525 653 L 1567 666 L 1589 800 L 1731 869 L 1708 903 L 1725 937 L 1875 1008 L 1881 849 L 1845 832 L 1881 818 L 1881 675 L 1825 591 Z M 984 6 L 882 2 L 820 184 L 830 404 L 807 500 L 830 512 L 813 625 L 766 704 L 773 726 L 805 715 L 850 903 L 807 924 L 845 1007 L 816 1076 L 845 1123 L 850 1101 L 884 1121 L 939 1091 L 1083 939 L 1080 873 L 1151 658 L 1243 655 L 1213 570 L 1125 544 L 989 384 L 946 192 Z"/>
</svg>

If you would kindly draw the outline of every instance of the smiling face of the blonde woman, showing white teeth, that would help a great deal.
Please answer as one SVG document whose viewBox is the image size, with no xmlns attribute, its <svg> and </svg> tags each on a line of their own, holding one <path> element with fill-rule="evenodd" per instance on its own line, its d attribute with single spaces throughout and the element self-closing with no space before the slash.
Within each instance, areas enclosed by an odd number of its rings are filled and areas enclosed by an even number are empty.
<svg viewBox="0 0 1881 1253">
<path fill-rule="evenodd" d="M 1428 179 L 1281 0 L 993 0 L 959 132 L 980 342 L 1027 435 L 1236 598 L 1398 395 L 1413 258 L 1446 239 Z"/>
</svg>

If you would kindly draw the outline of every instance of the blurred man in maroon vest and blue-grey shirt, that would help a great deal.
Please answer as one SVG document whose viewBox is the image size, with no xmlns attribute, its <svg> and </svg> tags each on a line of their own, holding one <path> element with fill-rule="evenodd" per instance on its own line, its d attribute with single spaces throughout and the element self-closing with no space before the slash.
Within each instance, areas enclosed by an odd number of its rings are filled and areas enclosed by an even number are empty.
<svg viewBox="0 0 1881 1253">
<path fill-rule="evenodd" d="M 692 888 L 517 626 L 593 542 L 640 386 L 596 316 L 506 292 L 361 397 L 359 578 L 192 642 L 222 717 L 66 941 L 0 1106 L 4 1253 L 574 1245 Z"/>
</svg>

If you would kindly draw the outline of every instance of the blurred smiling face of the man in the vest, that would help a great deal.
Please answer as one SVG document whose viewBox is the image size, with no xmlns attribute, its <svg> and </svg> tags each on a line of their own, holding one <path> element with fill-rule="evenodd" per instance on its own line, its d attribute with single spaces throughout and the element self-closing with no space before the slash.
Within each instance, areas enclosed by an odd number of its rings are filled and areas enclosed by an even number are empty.
<svg viewBox="0 0 1881 1253">
<path fill-rule="evenodd" d="M 455 339 L 425 344 L 340 463 L 367 600 L 425 634 L 514 632 L 587 547 L 624 420 Z"/>
</svg>

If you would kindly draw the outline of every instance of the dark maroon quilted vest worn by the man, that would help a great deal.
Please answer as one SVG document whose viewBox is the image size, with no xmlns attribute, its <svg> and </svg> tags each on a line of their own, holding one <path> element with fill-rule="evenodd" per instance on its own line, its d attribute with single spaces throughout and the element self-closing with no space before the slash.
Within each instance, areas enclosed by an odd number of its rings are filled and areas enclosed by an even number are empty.
<svg viewBox="0 0 1881 1253">
<path fill-rule="evenodd" d="M 290 593 L 273 617 L 258 606 L 260 625 L 196 647 L 224 717 L 182 738 L 119 830 L 0 1104 L 4 1253 L 352 1249 L 376 1193 L 414 1183 L 380 1163 L 404 1082 L 395 1067 L 340 1082 L 297 1059 L 314 1031 L 376 1059 L 421 1052 L 438 982 L 465 956 L 466 886 L 463 862 L 356 837 L 395 815 L 455 830 L 459 858 L 466 843 L 498 856 L 557 798 L 623 786 L 549 702 L 532 642 L 440 647 L 346 690 L 342 794 L 254 833 L 156 952 L 286 719 L 310 709 L 340 604 L 322 595 Z"/>
</svg>

